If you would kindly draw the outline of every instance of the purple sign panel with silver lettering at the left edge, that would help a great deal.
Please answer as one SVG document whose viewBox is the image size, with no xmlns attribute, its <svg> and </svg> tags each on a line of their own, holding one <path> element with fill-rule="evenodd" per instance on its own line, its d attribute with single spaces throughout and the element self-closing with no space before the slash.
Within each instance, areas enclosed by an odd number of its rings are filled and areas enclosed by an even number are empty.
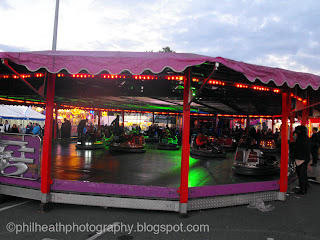
<svg viewBox="0 0 320 240">
<path fill-rule="evenodd" d="M 0 176 L 38 179 L 40 148 L 38 136 L 0 134 Z"/>
</svg>

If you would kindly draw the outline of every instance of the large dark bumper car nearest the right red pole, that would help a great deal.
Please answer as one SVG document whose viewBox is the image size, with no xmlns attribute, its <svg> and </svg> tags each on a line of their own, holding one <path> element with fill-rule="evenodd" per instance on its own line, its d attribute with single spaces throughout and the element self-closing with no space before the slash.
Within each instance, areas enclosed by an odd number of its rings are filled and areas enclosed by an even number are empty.
<svg viewBox="0 0 320 240">
<path fill-rule="evenodd" d="M 276 157 L 265 154 L 258 145 L 250 148 L 240 146 L 232 171 L 240 175 L 265 176 L 279 173 L 279 167 Z"/>
</svg>

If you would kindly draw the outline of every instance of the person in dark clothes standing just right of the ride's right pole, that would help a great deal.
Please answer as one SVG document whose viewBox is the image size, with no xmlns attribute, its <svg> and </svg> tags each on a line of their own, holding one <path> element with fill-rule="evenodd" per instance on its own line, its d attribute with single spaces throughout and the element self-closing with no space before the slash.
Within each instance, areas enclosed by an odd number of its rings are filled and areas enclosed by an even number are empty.
<svg viewBox="0 0 320 240">
<path fill-rule="evenodd" d="M 305 126 L 296 127 L 297 139 L 294 143 L 294 159 L 299 178 L 300 190 L 297 194 L 306 194 L 309 188 L 307 168 L 310 161 L 311 144 Z"/>
</svg>

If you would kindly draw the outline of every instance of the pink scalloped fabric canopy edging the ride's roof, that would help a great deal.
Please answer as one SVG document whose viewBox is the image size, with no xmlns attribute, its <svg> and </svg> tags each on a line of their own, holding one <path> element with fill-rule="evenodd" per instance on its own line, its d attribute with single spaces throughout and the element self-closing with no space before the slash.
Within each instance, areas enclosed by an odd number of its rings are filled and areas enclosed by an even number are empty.
<svg viewBox="0 0 320 240">
<path fill-rule="evenodd" d="M 118 74 L 123 70 L 128 70 L 132 74 L 141 74 L 145 70 L 159 73 L 165 67 L 181 72 L 189 66 L 218 62 L 244 74 L 251 82 L 259 79 L 266 84 L 274 81 L 277 86 L 287 83 L 291 88 L 299 85 L 302 89 L 311 86 L 317 90 L 320 87 L 320 76 L 317 75 L 191 53 L 36 51 L 0 52 L 0 58 L 23 65 L 30 71 L 46 68 L 51 73 L 58 73 L 66 69 L 69 73 L 86 70 L 90 74 L 98 74 L 102 70 L 107 70 L 111 74 Z"/>
</svg>

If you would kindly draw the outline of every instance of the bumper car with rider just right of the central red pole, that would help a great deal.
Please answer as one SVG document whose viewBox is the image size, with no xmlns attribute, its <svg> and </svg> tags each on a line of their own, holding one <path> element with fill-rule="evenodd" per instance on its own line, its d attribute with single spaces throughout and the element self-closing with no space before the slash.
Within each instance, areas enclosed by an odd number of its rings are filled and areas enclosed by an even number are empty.
<svg viewBox="0 0 320 240">
<path fill-rule="evenodd" d="M 201 148 L 196 144 L 197 135 L 194 134 L 191 138 L 190 155 L 196 155 L 206 158 L 225 158 L 226 153 L 217 145 L 210 144 L 209 147 Z"/>
</svg>

